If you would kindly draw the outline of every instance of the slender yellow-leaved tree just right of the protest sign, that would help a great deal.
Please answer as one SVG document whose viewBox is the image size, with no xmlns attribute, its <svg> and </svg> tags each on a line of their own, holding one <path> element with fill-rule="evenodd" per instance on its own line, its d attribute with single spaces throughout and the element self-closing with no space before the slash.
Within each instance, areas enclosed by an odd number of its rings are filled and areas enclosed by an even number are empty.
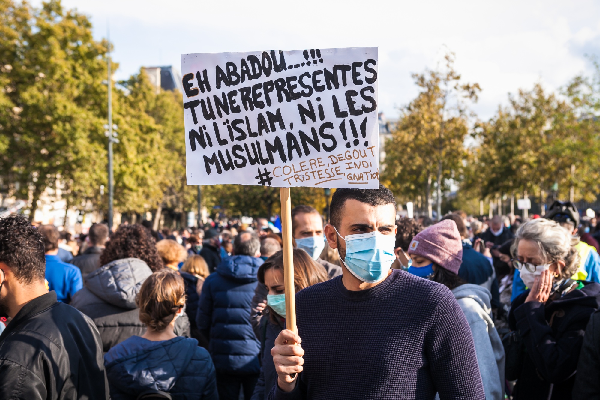
<svg viewBox="0 0 600 400">
<path fill-rule="evenodd" d="M 401 110 L 400 120 L 385 144 L 382 180 L 400 199 L 425 199 L 431 217 L 432 190 L 436 190 L 437 214 L 451 181 L 459 181 L 466 157 L 464 140 L 469 133 L 466 101 L 475 102 L 477 83 L 463 83 L 454 70 L 454 54 L 448 53 L 440 70 L 413 74 L 421 89 Z"/>
</svg>

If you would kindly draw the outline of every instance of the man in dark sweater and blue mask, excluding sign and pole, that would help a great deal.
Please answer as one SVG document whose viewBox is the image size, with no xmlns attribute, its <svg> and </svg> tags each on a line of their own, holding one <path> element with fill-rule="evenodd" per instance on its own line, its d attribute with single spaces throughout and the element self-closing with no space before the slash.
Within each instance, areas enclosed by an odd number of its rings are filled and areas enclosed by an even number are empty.
<svg viewBox="0 0 600 400">
<path fill-rule="evenodd" d="M 330 210 L 325 236 L 343 274 L 296 294 L 298 334 L 286 329 L 275 339 L 269 399 L 485 399 L 452 292 L 390 268 L 392 192 L 337 189 Z"/>
</svg>

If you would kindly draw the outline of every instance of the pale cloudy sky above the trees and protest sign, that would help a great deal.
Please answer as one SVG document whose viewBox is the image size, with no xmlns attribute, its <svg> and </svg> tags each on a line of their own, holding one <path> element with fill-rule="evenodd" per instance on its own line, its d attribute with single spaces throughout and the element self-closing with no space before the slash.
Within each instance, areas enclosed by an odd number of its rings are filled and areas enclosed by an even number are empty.
<svg viewBox="0 0 600 400">
<path fill-rule="evenodd" d="M 41 2 L 34 1 L 39 5 Z M 379 110 L 388 118 L 416 95 L 411 73 L 456 53 L 483 91 L 473 110 L 492 117 L 508 92 L 559 89 L 600 56 L 595 1 L 155 1 L 63 0 L 110 37 L 118 79 L 181 53 L 379 46 Z"/>
</svg>

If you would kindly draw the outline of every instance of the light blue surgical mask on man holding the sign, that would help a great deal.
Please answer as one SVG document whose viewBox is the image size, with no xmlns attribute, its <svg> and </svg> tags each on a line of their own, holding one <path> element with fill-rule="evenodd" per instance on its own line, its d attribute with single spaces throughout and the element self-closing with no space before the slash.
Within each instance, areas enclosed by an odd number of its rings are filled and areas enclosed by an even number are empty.
<svg viewBox="0 0 600 400">
<path fill-rule="evenodd" d="M 335 232 L 341 237 L 337 229 Z M 383 235 L 373 231 L 348 235 L 342 239 L 346 241 L 346 258 L 343 262 L 350 273 L 367 283 L 379 282 L 388 276 L 389 267 L 396 259 L 394 235 Z"/>
</svg>

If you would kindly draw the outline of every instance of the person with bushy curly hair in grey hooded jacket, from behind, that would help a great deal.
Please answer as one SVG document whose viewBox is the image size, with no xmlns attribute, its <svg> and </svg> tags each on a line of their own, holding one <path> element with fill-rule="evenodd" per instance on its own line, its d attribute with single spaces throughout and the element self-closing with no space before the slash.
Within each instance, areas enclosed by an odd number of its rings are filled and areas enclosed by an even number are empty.
<svg viewBox="0 0 600 400">
<path fill-rule="evenodd" d="M 156 242 L 141 225 L 121 225 L 106 244 L 98 268 L 88 276 L 71 306 L 94 320 L 104 351 L 133 335 L 142 335 L 136 295 L 152 272 L 164 269 Z M 175 323 L 177 335 L 189 336 L 187 315 Z"/>
</svg>

